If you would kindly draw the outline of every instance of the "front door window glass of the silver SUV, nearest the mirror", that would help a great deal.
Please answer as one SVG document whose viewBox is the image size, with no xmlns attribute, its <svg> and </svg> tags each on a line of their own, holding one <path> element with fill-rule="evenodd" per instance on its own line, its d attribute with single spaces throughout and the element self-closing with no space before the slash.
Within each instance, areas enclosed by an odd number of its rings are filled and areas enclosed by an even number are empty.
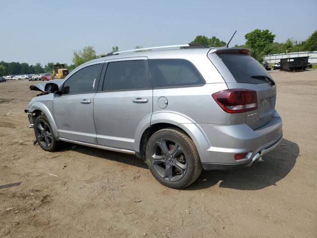
<svg viewBox="0 0 317 238">
<path fill-rule="evenodd" d="M 64 94 L 96 92 L 104 63 L 84 67 L 71 75 L 63 86 Z"/>
</svg>

